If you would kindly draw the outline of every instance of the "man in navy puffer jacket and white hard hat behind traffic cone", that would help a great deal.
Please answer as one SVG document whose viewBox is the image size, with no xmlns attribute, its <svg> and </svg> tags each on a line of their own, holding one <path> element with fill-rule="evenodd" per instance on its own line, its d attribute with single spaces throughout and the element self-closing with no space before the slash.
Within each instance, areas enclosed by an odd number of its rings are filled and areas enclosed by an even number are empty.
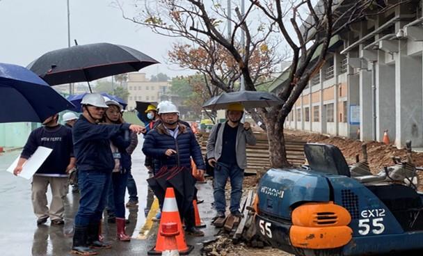
<svg viewBox="0 0 423 256">
<path fill-rule="evenodd" d="M 143 152 L 146 156 L 152 157 L 154 161 L 154 173 L 159 173 L 161 168 L 182 167 L 191 175 L 191 157 L 200 172 L 204 172 L 205 163 L 202 160 L 200 145 L 191 129 L 179 121 L 179 111 L 175 104 L 166 102 L 161 104 L 159 109 L 161 123 L 152 129 L 146 136 L 143 145 Z M 192 186 L 195 182 L 183 180 L 184 186 Z M 178 198 L 177 198 L 178 200 Z M 179 198 L 184 200 L 184 198 Z M 178 202 L 178 205 L 184 205 Z M 179 209 L 179 214 L 184 218 L 187 234 L 204 236 L 204 232 L 195 227 L 195 217 L 192 202 L 186 209 Z"/>
</svg>

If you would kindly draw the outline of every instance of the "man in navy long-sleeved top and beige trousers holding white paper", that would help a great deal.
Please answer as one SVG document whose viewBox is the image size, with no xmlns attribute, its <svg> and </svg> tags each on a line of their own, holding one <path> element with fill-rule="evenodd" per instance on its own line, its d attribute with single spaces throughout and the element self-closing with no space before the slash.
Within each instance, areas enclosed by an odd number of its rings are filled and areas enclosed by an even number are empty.
<svg viewBox="0 0 423 256">
<path fill-rule="evenodd" d="M 48 218 L 51 218 L 51 225 L 63 225 L 67 175 L 75 165 L 72 131 L 58 124 L 58 114 L 47 118 L 42 125 L 29 135 L 13 174 L 22 172 L 22 166 L 38 147 L 53 150 L 33 176 L 31 198 L 35 216 L 38 218 L 37 225 L 46 223 Z M 47 207 L 46 195 L 49 185 L 52 194 L 50 209 Z"/>
</svg>

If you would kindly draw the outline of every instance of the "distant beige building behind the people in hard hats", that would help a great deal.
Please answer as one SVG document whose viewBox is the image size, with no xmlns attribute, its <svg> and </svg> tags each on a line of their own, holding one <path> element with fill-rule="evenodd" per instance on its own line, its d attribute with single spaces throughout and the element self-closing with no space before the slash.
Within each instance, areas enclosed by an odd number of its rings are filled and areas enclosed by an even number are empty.
<svg viewBox="0 0 423 256">
<path fill-rule="evenodd" d="M 170 86 L 169 81 L 150 81 L 150 79 L 145 77 L 145 73 L 128 73 L 127 88 L 129 97 L 127 109 L 135 109 L 136 101 L 160 102 L 170 92 Z"/>
</svg>

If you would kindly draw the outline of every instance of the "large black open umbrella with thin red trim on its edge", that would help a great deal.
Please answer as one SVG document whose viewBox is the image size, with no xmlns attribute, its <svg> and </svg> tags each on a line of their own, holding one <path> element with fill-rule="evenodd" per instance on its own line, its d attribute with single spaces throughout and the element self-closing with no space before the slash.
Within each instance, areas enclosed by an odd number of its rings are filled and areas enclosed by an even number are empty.
<svg viewBox="0 0 423 256">
<path fill-rule="evenodd" d="M 136 49 L 101 42 L 49 51 L 27 68 L 54 86 L 134 72 L 156 63 Z"/>
</svg>

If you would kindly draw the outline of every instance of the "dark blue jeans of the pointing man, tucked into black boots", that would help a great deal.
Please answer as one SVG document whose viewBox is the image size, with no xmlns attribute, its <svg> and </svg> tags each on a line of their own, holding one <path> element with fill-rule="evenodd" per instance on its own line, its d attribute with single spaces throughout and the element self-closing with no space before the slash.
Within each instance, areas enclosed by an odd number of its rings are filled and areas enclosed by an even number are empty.
<svg viewBox="0 0 423 256">
<path fill-rule="evenodd" d="M 111 173 L 79 170 L 78 186 L 81 193 L 75 225 L 85 227 L 102 219 L 111 182 Z"/>
</svg>

